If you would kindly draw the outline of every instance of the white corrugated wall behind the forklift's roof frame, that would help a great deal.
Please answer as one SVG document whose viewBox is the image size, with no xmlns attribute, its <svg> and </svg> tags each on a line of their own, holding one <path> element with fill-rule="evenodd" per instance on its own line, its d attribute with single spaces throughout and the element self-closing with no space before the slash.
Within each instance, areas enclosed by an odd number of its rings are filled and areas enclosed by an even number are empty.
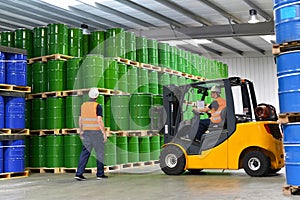
<svg viewBox="0 0 300 200">
<path fill-rule="evenodd" d="M 240 76 L 254 83 L 258 103 L 268 103 L 279 113 L 277 70 L 273 56 L 221 58 L 229 76 Z"/>
</svg>

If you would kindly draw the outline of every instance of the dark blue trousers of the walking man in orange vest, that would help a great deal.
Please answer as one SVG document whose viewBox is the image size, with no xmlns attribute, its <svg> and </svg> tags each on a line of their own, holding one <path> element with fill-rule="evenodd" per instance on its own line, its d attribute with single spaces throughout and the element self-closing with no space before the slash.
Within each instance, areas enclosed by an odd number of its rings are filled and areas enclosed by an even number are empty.
<svg viewBox="0 0 300 200">
<path fill-rule="evenodd" d="M 83 147 L 79 158 L 76 175 L 82 175 L 85 166 L 94 148 L 97 156 L 97 176 L 104 175 L 104 143 L 101 131 L 84 131 L 82 139 Z"/>
</svg>

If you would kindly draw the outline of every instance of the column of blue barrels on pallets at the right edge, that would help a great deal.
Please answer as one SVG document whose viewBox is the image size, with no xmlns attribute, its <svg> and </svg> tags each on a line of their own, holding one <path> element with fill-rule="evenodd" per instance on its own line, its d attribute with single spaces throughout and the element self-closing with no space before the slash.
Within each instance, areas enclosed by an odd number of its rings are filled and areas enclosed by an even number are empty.
<svg viewBox="0 0 300 200">
<path fill-rule="evenodd" d="M 279 86 L 279 117 L 283 125 L 286 182 L 300 186 L 300 2 L 297 0 L 275 0 L 275 32 L 277 77 Z"/>
</svg>

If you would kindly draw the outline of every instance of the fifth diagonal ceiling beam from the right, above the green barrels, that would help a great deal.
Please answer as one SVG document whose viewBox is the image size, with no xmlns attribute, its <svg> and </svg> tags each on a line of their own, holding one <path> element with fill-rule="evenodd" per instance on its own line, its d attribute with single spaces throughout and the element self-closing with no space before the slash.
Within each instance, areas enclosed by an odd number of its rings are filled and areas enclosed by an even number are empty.
<svg viewBox="0 0 300 200">
<path fill-rule="evenodd" d="M 139 25 L 144 26 L 144 27 L 151 27 L 151 26 L 156 27 L 156 25 L 154 25 L 154 24 L 151 24 L 149 22 L 146 22 L 146 21 L 140 20 L 138 18 L 132 17 L 128 14 L 122 13 L 122 12 L 117 11 L 113 8 L 110 8 L 108 6 L 102 5 L 102 4 L 97 3 L 97 2 L 95 2 L 95 4 L 96 4 L 96 7 L 101 9 L 102 11 L 104 11 L 106 13 L 109 13 L 109 14 L 114 14 L 114 15 L 120 17 L 120 18 L 126 19 L 126 20 L 128 20 L 130 22 L 133 22 L 135 24 L 139 24 Z"/>
</svg>

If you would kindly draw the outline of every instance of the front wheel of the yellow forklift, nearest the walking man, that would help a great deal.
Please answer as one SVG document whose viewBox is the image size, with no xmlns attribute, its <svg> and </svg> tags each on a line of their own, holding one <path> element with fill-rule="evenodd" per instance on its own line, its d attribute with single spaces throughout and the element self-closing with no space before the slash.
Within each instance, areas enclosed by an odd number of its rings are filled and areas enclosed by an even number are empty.
<svg viewBox="0 0 300 200">
<path fill-rule="evenodd" d="M 167 175 L 180 175 L 185 171 L 185 156 L 174 145 L 168 145 L 162 150 L 159 161 L 161 170 Z"/>
</svg>

